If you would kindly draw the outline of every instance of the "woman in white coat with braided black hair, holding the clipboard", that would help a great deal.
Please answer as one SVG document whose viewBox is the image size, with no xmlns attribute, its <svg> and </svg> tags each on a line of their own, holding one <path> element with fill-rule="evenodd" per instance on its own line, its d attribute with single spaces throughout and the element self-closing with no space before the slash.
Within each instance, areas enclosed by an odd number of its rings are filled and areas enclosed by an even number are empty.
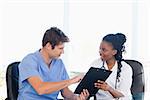
<svg viewBox="0 0 150 100">
<path fill-rule="evenodd" d="M 100 44 L 101 58 L 91 66 L 111 70 L 112 73 L 105 82 L 98 80 L 95 87 L 99 88 L 97 100 L 131 100 L 132 69 L 122 61 L 125 51 L 126 37 L 122 33 L 106 35 Z"/>
</svg>

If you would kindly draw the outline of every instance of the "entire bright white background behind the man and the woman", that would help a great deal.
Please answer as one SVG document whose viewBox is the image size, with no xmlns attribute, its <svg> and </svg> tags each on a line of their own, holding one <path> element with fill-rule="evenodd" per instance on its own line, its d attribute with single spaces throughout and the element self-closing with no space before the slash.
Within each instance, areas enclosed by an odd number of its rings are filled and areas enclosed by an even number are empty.
<svg viewBox="0 0 150 100">
<path fill-rule="evenodd" d="M 128 37 L 124 58 L 150 64 L 149 0 L 2 0 L 1 5 L 2 77 L 8 64 L 42 46 L 42 33 L 51 26 L 61 28 L 70 38 L 62 56 L 68 72 L 86 72 L 98 57 L 101 38 L 117 32 Z M 149 81 L 146 77 L 146 84 Z"/>
</svg>

